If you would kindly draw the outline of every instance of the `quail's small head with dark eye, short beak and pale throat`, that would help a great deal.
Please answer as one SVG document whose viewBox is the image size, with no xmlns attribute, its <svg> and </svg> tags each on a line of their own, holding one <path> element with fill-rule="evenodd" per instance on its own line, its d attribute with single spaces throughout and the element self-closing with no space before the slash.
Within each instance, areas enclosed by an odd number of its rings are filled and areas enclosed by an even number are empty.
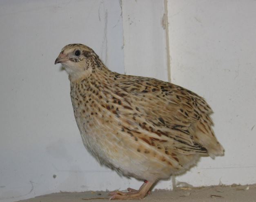
<svg viewBox="0 0 256 202">
<path fill-rule="evenodd" d="M 69 74 L 70 80 L 89 75 L 93 67 L 100 66 L 96 53 L 83 44 L 68 44 L 60 52 L 55 64 L 61 63 Z"/>
</svg>

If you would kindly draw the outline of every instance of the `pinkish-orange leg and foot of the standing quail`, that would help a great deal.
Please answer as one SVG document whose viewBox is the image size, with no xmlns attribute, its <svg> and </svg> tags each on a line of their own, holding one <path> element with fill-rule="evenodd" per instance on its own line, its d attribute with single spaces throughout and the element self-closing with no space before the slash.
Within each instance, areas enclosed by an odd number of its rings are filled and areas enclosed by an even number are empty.
<svg viewBox="0 0 256 202">
<path fill-rule="evenodd" d="M 139 190 L 128 188 L 128 192 L 121 192 L 121 191 L 113 191 L 109 193 L 111 199 L 143 199 L 149 192 L 149 189 L 154 184 L 154 182 L 145 181 L 142 186 L 140 186 Z"/>
</svg>

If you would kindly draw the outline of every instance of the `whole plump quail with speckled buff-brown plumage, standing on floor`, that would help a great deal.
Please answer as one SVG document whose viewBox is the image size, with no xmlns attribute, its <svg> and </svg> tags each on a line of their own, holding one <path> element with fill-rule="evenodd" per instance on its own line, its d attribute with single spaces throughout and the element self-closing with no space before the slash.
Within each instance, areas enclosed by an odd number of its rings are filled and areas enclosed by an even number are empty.
<svg viewBox="0 0 256 202">
<path fill-rule="evenodd" d="M 65 46 L 55 64 L 69 73 L 70 95 L 82 141 L 102 164 L 140 180 L 140 190 L 111 199 L 144 198 L 159 179 L 223 155 L 211 126 L 211 108 L 183 87 L 112 72 L 92 49 Z"/>
</svg>

